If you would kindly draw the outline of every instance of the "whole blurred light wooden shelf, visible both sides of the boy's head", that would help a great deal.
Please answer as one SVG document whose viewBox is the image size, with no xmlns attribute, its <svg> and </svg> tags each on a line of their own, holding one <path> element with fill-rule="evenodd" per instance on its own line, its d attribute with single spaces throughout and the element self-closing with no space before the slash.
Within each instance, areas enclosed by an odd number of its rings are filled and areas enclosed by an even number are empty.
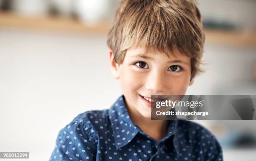
<svg viewBox="0 0 256 161">
<path fill-rule="evenodd" d="M 0 28 L 107 35 L 110 26 L 109 21 L 87 26 L 71 18 L 24 17 L 15 13 L 0 12 Z M 256 48 L 256 32 L 205 30 L 205 37 L 207 44 Z"/>
</svg>

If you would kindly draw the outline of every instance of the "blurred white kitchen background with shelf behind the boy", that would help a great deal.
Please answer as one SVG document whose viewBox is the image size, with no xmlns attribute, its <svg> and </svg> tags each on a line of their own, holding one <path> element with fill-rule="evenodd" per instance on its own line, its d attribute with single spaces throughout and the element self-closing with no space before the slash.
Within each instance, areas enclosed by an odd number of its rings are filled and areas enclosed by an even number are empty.
<svg viewBox="0 0 256 161">
<path fill-rule="evenodd" d="M 49 160 L 61 128 L 121 95 L 106 45 L 119 3 L 0 0 L 0 151 Z M 256 95 L 256 0 L 198 3 L 208 64 L 187 95 Z M 196 122 L 218 138 L 225 161 L 255 161 L 256 121 Z"/>
</svg>

